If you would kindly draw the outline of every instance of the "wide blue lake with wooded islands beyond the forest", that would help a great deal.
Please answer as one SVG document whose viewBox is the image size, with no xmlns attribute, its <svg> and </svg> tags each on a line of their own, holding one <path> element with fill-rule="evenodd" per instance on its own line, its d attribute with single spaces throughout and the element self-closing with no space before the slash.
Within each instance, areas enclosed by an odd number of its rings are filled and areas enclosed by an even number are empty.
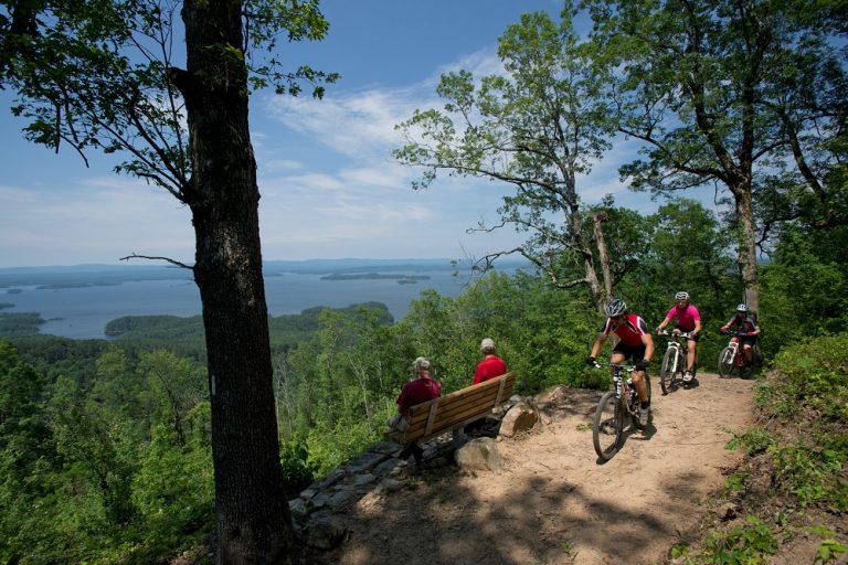
<svg viewBox="0 0 848 565">
<path fill-rule="evenodd" d="M 393 271 L 396 275 L 396 271 Z M 322 280 L 322 275 L 282 273 L 265 278 L 265 295 L 271 316 L 300 313 L 314 306 L 341 308 L 352 303 L 384 303 L 395 320 L 402 319 L 410 302 L 424 289 L 443 296 L 462 292 L 465 279 L 449 269 L 416 270 L 427 280 L 399 284 L 394 279 Z M 118 285 L 75 288 L 39 288 L 15 286 L 14 294 L 0 289 L 0 302 L 13 308 L 0 312 L 39 312 L 47 322 L 42 333 L 74 339 L 105 338 L 106 322 L 124 316 L 172 315 L 189 317 L 201 313 L 200 292 L 188 279 L 138 280 Z M 20 291 L 18 291 L 20 290 Z"/>
</svg>

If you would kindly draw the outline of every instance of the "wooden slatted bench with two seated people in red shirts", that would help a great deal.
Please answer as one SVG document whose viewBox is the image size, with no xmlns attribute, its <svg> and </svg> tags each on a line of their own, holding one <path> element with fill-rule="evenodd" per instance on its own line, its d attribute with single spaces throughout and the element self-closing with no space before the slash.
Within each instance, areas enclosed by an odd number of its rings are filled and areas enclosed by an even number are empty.
<svg viewBox="0 0 848 565">
<path fill-rule="evenodd" d="M 480 384 L 466 386 L 445 396 L 416 404 L 410 411 L 409 427 L 402 433 L 386 433 L 386 439 L 409 443 L 428 439 L 452 430 L 454 443 L 463 441 L 466 424 L 491 414 L 512 395 L 516 373 L 489 379 Z"/>
</svg>

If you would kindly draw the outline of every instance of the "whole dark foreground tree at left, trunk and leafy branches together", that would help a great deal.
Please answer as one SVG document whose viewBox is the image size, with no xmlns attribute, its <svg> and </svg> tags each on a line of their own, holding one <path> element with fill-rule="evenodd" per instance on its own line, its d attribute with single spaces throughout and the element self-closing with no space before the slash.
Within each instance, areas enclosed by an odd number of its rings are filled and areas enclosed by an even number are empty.
<svg viewBox="0 0 848 565">
<path fill-rule="evenodd" d="M 168 260 L 192 270 L 203 303 L 220 563 L 292 556 L 247 103 L 252 86 L 298 94 L 333 81 L 287 72 L 274 55 L 280 36 L 320 40 L 327 29 L 317 0 L 0 3 L 0 83 L 19 95 L 25 136 L 83 157 L 125 154 L 119 172 L 191 210 L 194 264 Z"/>
</svg>

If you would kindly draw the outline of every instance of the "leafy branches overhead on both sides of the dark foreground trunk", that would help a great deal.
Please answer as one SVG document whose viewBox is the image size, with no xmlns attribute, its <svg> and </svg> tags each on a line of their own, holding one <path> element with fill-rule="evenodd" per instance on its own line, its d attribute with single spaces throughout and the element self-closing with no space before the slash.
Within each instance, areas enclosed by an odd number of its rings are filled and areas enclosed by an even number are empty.
<svg viewBox="0 0 848 565">
<path fill-rule="evenodd" d="M 12 111 L 24 135 L 60 150 L 66 145 L 88 164 L 88 151 L 125 153 L 115 167 L 168 190 L 182 202 L 191 188 L 186 95 L 193 78 L 180 68 L 182 2 L 57 0 L 0 3 L 0 86 L 19 93 Z M 243 45 L 219 45 L 220 60 L 246 64 L 253 89 L 297 96 L 310 85 L 322 97 L 339 78 L 300 65 L 287 70 L 276 47 L 321 40 L 329 23 L 316 0 L 244 4 Z M 222 71 L 222 79 L 226 73 Z"/>
</svg>

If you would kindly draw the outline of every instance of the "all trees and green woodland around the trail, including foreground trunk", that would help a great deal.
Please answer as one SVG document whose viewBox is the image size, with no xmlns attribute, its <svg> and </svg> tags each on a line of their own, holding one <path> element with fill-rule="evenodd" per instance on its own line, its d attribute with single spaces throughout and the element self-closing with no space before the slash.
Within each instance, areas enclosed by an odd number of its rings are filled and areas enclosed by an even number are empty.
<svg viewBox="0 0 848 565">
<path fill-rule="evenodd" d="M 110 341 L 35 335 L 38 319 L 9 324 L 1 561 L 153 563 L 215 532 L 218 563 L 295 562 L 286 499 L 380 437 L 413 359 L 427 356 L 444 392 L 457 390 L 489 337 L 520 394 L 604 388 L 584 363 L 604 305 L 623 299 L 653 327 L 679 290 L 704 320 L 702 367 L 736 303 L 757 313 L 763 371 L 780 375 L 757 403 L 807 426 L 791 445 L 752 430 L 739 446 L 770 454 L 775 489 L 844 516 L 844 2 L 589 0 L 563 2 L 559 20 L 523 14 L 498 38 L 502 72 L 444 74 L 443 106 L 396 126 L 393 157 L 421 173 L 416 190 L 445 175 L 509 186 L 499 221 L 471 230 L 527 238 L 477 258 L 460 296 L 423 291 L 402 320 L 375 303 L 268 318 L 247 102 L 262 89 L 321 98 L 339 77 L 285 72 L 274 56 L 280 30 L 290 41 L 328 33 L 317 0 L 212 9 L 221 3 L 182 4 L 180 68 L 158 2 L 0 2 L 0 79 L 20 96 L 24 135 L 126 154 L 117 172 L 186 204 L 197 262 L 176 266 L 203 302 L 197 319 L 116 320 Z M 585 36 L 577 13 L 591 18 Z M 140 60 L 127 54 L 138 47 Z M 660 199 L 656 213 L 581 198 L 623 139 L 642 145 L 621 181 Z M 709 204 L 691 198 L 703 188 Z M 504 275 L 507 255 L 533 268 Z M 783 527 L 772 520 L 754 534 Z M 823 561 L 846 551 L 825 550 Z M 691 558 L 761 562 L 727 555 Z"/>
</svg>

